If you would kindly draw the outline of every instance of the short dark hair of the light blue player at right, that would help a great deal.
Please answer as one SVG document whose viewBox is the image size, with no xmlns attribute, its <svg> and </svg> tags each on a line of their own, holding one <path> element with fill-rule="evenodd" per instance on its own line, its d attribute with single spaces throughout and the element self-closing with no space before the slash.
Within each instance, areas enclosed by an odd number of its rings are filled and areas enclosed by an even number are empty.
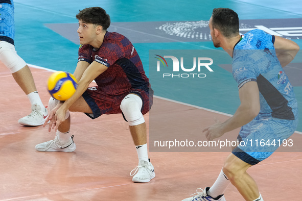
<svg viewBox="0 0 302 201">
<path fill-rule="evenodd" d="M 229 8 L 215 8 L 212 13 L 212 27 L 223 36 L 232 37 L 239 34 L 239 19 L 235 11 Z"/>
</svg>

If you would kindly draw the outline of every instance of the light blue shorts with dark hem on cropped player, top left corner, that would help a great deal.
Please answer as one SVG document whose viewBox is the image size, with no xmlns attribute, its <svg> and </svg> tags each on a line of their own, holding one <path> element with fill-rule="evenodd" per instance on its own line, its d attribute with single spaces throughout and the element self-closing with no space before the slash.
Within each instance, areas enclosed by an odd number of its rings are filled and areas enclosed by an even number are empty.
<svg viewBox="0 0 302 201">
<path fill-rule="evenodd" d="M 0 0 L 0 40 L 14 44 L 14 2 Z"/>
</svg>

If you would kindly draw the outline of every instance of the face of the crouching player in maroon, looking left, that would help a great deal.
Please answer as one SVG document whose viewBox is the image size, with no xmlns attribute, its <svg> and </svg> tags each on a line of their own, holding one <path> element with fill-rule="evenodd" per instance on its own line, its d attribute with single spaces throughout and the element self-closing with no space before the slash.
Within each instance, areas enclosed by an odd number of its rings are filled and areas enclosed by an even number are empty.
<svg viewBox="0 0 302 201">
<path fill-rule="evenodd" d="M 96 39 L 96 28 L 94 24 L 87 23 L 79 20 L 79 29 L 78 29 L 80 44 L 90 44 Z"/>
</svg>

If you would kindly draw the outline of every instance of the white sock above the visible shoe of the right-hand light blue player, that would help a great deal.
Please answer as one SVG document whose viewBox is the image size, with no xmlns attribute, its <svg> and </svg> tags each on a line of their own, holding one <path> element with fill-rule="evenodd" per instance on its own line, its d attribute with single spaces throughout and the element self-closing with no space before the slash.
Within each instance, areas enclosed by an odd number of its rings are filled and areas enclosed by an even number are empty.
<svg viewBox="0 0 302 201">
<path fill-rule="evenodd" d="M 227 179 L 226 175 L 223 173 L 221 169 L 217 180 L 215 181 L 213 186 L 207 191 L 207 194 L 213 198 L 216 198 L 224 193 L 225 189 L 229 184 L 230 181 Z"/>
</svg>

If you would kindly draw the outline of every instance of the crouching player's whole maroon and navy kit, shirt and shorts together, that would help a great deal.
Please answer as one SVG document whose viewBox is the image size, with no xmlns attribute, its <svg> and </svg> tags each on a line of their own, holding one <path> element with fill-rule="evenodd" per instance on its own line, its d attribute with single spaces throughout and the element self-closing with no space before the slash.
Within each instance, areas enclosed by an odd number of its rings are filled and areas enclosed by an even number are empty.
<svg viewBox="0 0 302 201">
<path fill-rule="evenodd" d="M 96 61 L 108 68 L 95 79 L 98 86 L 88 88 L 82 95 L 93 112 L 93 115 L 87 114 L 90 118 L 122 113 L 120 104 L 129 93 L 142 98 L 142 114 L 151 109 L 153 90 L 140 57 L 125 36 L 107 32 L 99 49 L 81 45 L 79 61 L 89 64 Z"/>
</svg>

